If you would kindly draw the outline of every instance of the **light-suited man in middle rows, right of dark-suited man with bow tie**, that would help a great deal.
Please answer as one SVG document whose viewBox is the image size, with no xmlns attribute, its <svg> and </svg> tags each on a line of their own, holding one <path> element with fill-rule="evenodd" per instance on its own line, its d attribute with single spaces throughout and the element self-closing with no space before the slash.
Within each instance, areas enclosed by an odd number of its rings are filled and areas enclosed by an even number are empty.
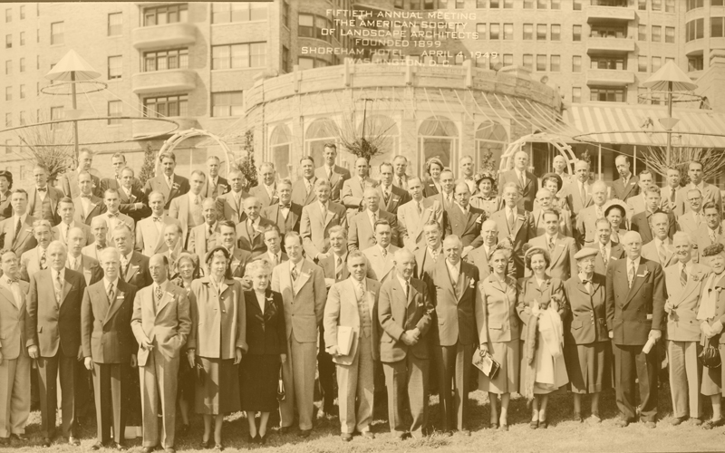
<svg viewBox="0 0 725 453">
<path fill-rule="evenodd" d="M 304 254 L 309 259 L 321 261 L 329 253 L 330 228 L 343 226 L 347 229 L 345 207 L 330 201 L 330 181 L 317 179 L 314 185 L 317 202 L 302 208 L 300 236 L 304 244 Z"/>
</svg>

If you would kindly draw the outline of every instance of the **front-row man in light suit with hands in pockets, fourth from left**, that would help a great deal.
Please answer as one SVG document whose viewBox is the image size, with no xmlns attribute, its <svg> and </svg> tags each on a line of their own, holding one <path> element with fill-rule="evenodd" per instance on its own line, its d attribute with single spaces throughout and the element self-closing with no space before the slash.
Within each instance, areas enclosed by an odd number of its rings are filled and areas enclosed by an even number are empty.
<svg viewBox="0 0 725 453">
<path fill-rule="evenodd" d="M 131 317 L 131 329 L 139 344 L 141 445 L 143 453 L 151 453 L 160 441 L 166 453 L 175 453 L 179 352 L 191 332 L 189 298 L 185 290 L 169 282 L 166 256 L 151 256 L 149 269 L 153 284 L 136 292 Z M 163 412 L 160 436 L 159 406 Z"/>
</svg>

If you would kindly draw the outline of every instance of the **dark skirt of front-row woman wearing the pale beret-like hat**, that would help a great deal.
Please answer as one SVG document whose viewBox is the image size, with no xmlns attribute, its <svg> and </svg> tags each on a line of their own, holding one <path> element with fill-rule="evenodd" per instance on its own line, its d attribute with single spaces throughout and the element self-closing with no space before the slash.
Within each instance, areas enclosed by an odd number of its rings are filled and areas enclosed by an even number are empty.
<svg viewBox="0 0 725 453">
<path fill-rule="evenodd" d="M 564 354 L 573 393 L 596 393 L 612 388 L 614 370 L 610 342 L 567 344 Z"/>
</svg>

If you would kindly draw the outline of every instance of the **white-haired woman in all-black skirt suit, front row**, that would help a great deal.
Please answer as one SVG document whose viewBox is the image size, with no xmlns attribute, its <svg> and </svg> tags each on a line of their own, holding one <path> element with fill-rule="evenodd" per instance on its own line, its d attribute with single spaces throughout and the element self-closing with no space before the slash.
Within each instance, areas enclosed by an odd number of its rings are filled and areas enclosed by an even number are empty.
<svg viewBox="0 0 725 453">
<path fill-rule="evenodd" d="M 247 344 L 242 359 L 240 387 L 242 410 L 247 411 L 249 438 L 252 443 L 266 442 L 269 413 L 279 409 L 277 381 L 281 363 L 286 361 L 285 304 L 282 294 L 272 291 L 272 264 L 260 259 L 247 265 L 252 291 L 245 292 L 247 304 Z M 259 428 L 255 414 L 262 412 Z"/>
</svg>

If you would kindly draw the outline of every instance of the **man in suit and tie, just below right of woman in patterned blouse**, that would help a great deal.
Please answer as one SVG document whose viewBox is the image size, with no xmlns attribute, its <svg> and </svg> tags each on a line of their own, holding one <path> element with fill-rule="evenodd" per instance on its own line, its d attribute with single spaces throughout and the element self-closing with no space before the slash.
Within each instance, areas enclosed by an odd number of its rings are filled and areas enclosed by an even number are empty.
<svg viewBox="0 0 725 453">
<path fill-rule="evenodd" d="M 518 188 L 508 183 L 503 190 L 505 206 L 493 213 L 491 220 L 498 225 L 498 240 L 509 239 L 513 248 L 513 261 L 517 278 L 524 276 L 524 244 L 536 237 L 536 227 L 531 214 L 517 207 Z"/>
</svg>

